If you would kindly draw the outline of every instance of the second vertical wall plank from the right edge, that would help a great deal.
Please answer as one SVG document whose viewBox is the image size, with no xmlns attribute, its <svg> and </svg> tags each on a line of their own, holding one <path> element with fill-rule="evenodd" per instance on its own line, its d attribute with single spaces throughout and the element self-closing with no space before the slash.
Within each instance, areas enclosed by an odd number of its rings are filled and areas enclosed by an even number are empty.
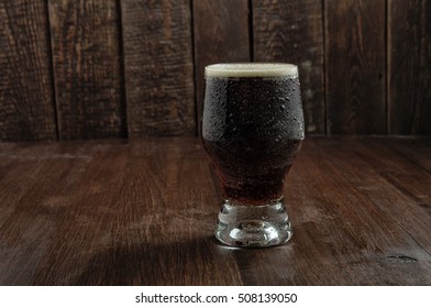
<svg viewBox="0 0 431 308">
<path fill-rule="evenodd" d="M 385 1 L 325 1 L 328 133 L 385 134 Z"/>
</svg>

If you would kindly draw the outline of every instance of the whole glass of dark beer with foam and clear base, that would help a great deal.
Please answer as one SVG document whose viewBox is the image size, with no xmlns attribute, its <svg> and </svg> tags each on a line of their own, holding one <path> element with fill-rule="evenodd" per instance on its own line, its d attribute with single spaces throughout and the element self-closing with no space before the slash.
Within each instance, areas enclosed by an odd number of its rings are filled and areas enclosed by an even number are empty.
<svg viewBox="0 0 431 308">
<path fill-rule="evenodd" d="M 223 194 L 216 238 L 232 246 L 285 243 L 292 232 L 283 187 L 305 135 L 298 68 L 213 64 L 205 76 L 201 140 Z"/>
</svg>

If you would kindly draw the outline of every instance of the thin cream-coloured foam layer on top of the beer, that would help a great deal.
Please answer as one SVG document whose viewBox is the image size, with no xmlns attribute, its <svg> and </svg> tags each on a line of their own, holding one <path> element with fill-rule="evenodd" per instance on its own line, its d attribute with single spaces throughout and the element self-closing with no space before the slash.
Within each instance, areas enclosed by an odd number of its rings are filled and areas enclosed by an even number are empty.
<svg viewBox="0 0 431 308">
<path fill-rule="evenodd" d="M 298 67 L 287 63 L 220 63 L 205 68 L 206 77 L 290 77 L 298 78 Z"/>
</svg>

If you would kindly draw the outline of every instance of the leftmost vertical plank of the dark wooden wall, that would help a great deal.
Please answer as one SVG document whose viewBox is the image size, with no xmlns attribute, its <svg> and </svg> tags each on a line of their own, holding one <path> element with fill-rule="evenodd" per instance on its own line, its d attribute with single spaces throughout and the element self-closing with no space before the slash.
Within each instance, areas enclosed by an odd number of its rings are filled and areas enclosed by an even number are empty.
<svg viewBox="0 0 431 308">
<path fill-rule="evenodd" d="M 0 140 L 56 140 L 43 0 L 0 1 Z"/>
</svg>

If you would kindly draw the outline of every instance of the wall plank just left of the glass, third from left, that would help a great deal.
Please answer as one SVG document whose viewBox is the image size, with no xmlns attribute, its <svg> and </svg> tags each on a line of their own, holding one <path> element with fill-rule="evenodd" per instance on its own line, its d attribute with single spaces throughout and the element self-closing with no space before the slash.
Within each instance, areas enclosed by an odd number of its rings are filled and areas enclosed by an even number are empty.
<svg viewBox="0 0 431 308">
<path fill-rule="evenodd" d="M 131 136 L 196 133 L 189 0 L 122 1 Z"/>
</svg>

